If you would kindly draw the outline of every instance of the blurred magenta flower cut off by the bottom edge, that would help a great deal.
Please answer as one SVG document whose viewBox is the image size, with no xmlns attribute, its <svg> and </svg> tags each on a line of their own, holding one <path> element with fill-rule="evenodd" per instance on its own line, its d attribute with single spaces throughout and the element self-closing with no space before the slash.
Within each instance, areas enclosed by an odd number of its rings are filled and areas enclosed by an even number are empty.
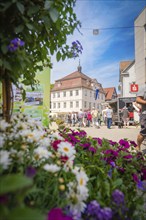
<svg viewBox="0 0 146 220">
<path fill-rule="evenodd" d="M 65 216 L 60 208 L 51 209 L 47 220 L 73 220 L 70 216 Z"/>
</svg>

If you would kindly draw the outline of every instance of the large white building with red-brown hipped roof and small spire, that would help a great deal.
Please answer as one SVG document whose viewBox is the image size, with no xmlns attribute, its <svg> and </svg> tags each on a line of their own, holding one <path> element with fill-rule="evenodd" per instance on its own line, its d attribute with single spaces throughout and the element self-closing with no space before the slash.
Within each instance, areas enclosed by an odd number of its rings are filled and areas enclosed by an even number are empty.
<svg viewBox="0 0 146 220">
<path fill-rule="evenodd" d="M 66 113 L 95 107 L 101 111 L 101 104 L 104 102 L 105 92 L 102 85 L 96 79 L 83 74 L 79 66 L 76 72 L 55 81 L 51 89 L 50 110 L 52 113 Z"/>
</svg>

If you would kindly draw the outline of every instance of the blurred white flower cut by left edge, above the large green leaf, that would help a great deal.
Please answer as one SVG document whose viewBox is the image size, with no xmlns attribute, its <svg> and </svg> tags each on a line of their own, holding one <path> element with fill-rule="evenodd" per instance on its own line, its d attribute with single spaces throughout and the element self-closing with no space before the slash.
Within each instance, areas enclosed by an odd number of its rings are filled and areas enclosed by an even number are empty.
<svg viewBox="0 0 146 220">
<path fill-rule="evenodd" d="M 8 166 L 11 164 L 11 158 L 9 158 L 10 152 L 6 151 L 6 150 L 2 150 L 0 151 L 0 165 L 2 165 L 2 167 L 4 169 L 7 169 Z"/>
</svg>

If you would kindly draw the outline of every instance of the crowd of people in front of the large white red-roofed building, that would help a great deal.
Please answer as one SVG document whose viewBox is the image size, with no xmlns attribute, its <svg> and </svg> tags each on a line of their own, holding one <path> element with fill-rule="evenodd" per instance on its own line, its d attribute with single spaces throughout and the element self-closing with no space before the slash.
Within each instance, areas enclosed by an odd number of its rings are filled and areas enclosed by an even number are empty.
<svg viewBox="0 0 146 220">
<path fill-rule="evenodd" d="M 110 106 L 107 106 L 102 112 L 94 107 L 90 110 L 79 112 L 71 112 L 67 114 L 67 124 L 69 126 L 78 126 L 78 127 L 90 127 L 94 126 L 100 128 L 101 124 L 104 123 L 107 125 L 107 128 L 111 128 L 112 125 L 112 115 L 113 110 Z"/>
</svg>

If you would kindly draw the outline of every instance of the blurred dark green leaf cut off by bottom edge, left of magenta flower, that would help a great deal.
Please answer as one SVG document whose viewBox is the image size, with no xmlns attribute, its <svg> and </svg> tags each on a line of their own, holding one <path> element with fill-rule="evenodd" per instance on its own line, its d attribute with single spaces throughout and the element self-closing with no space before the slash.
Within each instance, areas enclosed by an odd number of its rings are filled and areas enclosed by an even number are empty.
<svg viewBox="0 0 146 220">
<path fill-rule="evenodd" d="M 44 215 L 38 210 L 29 208 L 16 208 L 11 211 L 8 220 L 44 220 Z"/>
</svg>

